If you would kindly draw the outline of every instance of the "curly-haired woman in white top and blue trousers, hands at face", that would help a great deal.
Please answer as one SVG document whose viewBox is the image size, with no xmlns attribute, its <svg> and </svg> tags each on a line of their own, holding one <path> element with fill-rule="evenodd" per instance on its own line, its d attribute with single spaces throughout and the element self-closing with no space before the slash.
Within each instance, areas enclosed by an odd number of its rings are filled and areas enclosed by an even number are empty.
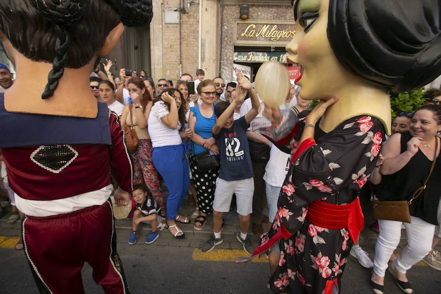
<svg viewBox="0 0 441 294">
<path fill-rule="evenodd" d="M 184 232 L 176 222 L 190 223 L 178 215 L 182 200 L 190 183 L 187 148 L 182 144 L 185 123 L 185 101 L 176 89 L 166 89 L 155 99 L 148 116 L 148 133 L 153 145 L 153 164 L 169 189 L 167 199 L 167 224 L 176 238 L 184 238 Z"/>
</svg>

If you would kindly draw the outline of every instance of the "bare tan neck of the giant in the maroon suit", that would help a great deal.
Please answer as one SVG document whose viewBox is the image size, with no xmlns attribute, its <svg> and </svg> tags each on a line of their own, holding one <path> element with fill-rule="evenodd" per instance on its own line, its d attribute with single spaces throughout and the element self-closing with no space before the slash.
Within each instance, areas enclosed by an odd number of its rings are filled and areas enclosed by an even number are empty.
<svg viewBox="0 0 441 294">
<path fill-rule="evenodd" d="M 18 54 L 15 60 L 17 79 L 4 94 L 8 112 L 96 118 L 98 102 L 89 86 L 93 64 L 79 69 L 65 69 L 54 95 L 41 98 L 52 64 L 36 62 Z"/>
</svg>

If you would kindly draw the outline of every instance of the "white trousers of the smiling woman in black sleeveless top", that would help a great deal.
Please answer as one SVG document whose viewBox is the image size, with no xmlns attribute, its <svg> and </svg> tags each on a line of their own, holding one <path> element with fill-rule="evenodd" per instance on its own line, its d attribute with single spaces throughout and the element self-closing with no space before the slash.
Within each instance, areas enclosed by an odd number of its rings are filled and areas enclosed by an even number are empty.
<svg viewBox="0 0 441 294">
<path fill-rule="evenodd" d="M 400 242 L 401 224 L 406 227 L 407 245 L 394 261 L 396 269 L 402 273 L 422 260 L 432 249 L 435 225 L 411 217 L 412 223 L 378 220 L 380 234 L 375 245 L 374 272 L 384 277 L 388 261 Z"/>
</svg>

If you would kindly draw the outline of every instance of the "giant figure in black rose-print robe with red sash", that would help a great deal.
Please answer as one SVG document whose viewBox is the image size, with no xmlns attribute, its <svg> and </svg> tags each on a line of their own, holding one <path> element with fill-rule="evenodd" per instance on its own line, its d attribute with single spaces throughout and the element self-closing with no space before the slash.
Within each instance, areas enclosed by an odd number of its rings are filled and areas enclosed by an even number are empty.
<svg viewBox="0 0 441 294">
<path fill-rule="evenodd" d="M 390 133 L 388 91 L 441 73 L 439 15 L 436 0 L 295 1 L 289 58 L 302 66 L 302 98 L 321 102 L 299 125 L 276 219 L 254 252 L 281 250 L 274 292 L 340 291 L 363 228 L 358 195 Z"/>
</svg>

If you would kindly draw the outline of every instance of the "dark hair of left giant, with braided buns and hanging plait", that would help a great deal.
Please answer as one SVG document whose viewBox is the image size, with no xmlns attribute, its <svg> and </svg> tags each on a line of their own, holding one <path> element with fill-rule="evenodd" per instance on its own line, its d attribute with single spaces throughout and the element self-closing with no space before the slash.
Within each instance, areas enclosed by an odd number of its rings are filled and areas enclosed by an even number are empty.
<svg viewBox="0 0 441 294">
<path fill-rule="evenodd" d="M 26 58 L 52 63 L 43 99 L 53 95 L 64 68 L 88 64 L 120 22 L 145 26 L 151 0 L 0 1 L 0 30 Z"/>
</svg>

